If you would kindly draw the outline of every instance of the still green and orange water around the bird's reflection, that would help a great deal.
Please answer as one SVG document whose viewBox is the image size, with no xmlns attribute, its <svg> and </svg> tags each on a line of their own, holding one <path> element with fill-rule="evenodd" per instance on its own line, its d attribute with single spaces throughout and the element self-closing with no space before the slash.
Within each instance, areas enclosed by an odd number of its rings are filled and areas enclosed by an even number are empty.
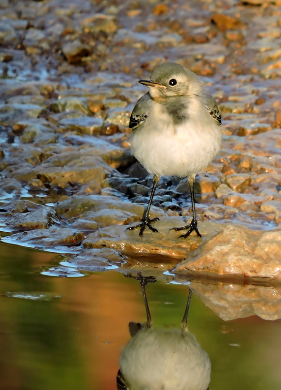
<svg viewBox="0 0 281 390">
<path fill-rule="evenodd" d="M 60 255 L 0 245 L 0 389 L 116 389 L 128 324 L 146 320 L 139 282 L 42 275 Z M 154 326 L 180 326 L 186 283 L 157 280 L 147 296 Z M 210 390 L 281 388 L 281 320 L 223 321 L 193 294 L 188 328 L 210 357 Z"/>
</svg>

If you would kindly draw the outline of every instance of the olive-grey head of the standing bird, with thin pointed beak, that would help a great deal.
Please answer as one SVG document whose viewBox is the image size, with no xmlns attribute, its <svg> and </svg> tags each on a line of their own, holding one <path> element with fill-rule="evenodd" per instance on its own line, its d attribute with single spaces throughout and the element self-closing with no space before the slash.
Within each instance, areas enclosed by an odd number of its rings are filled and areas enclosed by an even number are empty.
<svg viewBox="0 0 281 390">
<path fill-rule="evenodd" d="M 195 73 L 175 62 L 158 65 L 150 80 L 139 80 L 139 83 L 149 87 L 150 96 L 155 100 L 197 94 L 202 88 Z"/>
</svg>

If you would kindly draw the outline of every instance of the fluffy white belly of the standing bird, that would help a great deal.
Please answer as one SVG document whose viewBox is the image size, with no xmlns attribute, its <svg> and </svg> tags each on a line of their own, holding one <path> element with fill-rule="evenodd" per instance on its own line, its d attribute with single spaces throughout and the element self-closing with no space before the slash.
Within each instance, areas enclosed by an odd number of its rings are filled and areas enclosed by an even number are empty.
<svg viewBox="0 0 281 390">
<path fill-rule="evenodd" d="M 221 145 L 219 127 L 204 122 L 202 118 L 174 126 L 167 117 L 161 122 L 147 120 L 132 133 L 132 154 L 152 175 L 196 174 L 214 159 Z"/>
</svg>

